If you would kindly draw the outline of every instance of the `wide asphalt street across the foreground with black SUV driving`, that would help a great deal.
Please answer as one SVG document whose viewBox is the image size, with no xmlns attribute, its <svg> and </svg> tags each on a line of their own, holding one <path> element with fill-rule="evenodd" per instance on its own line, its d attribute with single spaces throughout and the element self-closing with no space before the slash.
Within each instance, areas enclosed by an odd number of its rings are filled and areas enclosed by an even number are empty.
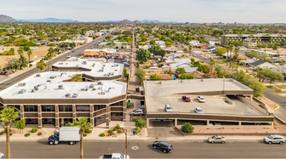
<svg viewBox="0 0 286 159">
<path fill-rule="evenodd" d="M 285 158 L 286 145 L 263 142 L 172 141 L 173 151 L 164 154 L 152 147 L 152 141 L 131 141 L 127 148 L 130 158 Z M 6 155 L 6 143 L 0 142 Z M 137 146 L 139 149 L 133 150 Z M 85 141 L 84 158 L 100 158 L 104 154 L 125 153 L 125 141 Z M 79 158 L 80 144 L 48 145 L 47 142 L 11 142 L 11 158 Z"/>
</svg>

